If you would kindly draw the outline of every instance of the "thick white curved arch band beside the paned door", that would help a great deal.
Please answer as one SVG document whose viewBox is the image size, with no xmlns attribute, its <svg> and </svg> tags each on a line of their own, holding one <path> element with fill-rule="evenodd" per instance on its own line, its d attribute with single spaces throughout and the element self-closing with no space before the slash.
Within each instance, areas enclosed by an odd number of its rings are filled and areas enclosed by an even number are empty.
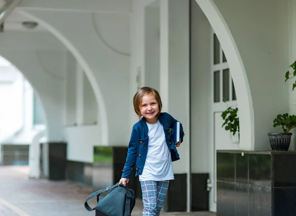
<svg viewBox="0 0 296 216">
<path fill-rule="evenodd" d="M 240 149 L 254 150 L 255 126 L 251 90 L 245 67 L 233 36 L 213 0 L 196 0 L 214 29 L 231 69 L 240 119 Z"/>
</svg>

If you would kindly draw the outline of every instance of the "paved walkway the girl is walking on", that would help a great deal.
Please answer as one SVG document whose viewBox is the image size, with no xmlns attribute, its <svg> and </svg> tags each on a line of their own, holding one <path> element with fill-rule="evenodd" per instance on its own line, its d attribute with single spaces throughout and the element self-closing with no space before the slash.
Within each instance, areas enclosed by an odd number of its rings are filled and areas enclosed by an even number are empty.
<svg viewBox="0 0 296 216">
<path fill-rule="evenodd" d="M 90 187 L 69 181 L 29 179 L 29 169 L 0 167 L 0 216 L 94 216 L 84 208 Z M 96 199 L 89 202 L 95 207 Z M 137 200 L 132 216 L 142 216 L 142 201 Z M 162 213 L 162 216 L 216 216 L 213 213 Z"/>
</svg>

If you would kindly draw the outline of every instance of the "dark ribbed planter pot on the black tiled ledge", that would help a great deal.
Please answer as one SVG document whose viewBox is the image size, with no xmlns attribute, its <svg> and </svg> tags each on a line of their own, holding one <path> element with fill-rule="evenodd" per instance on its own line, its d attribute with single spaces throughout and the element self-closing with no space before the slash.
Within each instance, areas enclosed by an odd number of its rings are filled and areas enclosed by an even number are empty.
<svg viewBox="0 0 296 216">
<path fill-rule="evenodd" d="M 292 133 L 268 133 L 270 147 L 273 151 L 288 151 Z"/>
</svg>

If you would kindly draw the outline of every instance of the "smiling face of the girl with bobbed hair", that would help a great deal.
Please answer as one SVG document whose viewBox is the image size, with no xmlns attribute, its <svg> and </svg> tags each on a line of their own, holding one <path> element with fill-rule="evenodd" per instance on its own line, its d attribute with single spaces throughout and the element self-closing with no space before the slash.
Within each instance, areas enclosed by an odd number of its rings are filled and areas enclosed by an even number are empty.
<svg viewBox="0 0 296 216">
<path fill-rule="evenodd" d="M 157 122 L 157 114 L 159 112 L 157 100 L 154 94 L 145 94 L 142 97 L 142 102 L 140 103 L 141 115 L 146 118 L 149 124 L 155 124 Z"/>
</svg>

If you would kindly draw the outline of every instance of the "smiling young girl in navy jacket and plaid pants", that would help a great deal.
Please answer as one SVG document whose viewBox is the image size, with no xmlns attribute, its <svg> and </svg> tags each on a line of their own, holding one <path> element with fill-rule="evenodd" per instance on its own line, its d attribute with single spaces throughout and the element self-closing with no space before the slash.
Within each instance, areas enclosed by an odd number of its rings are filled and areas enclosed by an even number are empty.
<svg viewBox="0 0 296 216">
<path fill-rule="evenodd" d="M 143 216 L 159 216 L 169 180 L 174 179 L 172 161 L 180 159 L 176 147 L 183 142 L 183 127 L 180 124 L 180 142 L 172 143 L 171 128 L 177 120 L 168 113 L 161 113 L 157 90 L 142 87 L 133 102 L 140 120 L 133 127 L 119 183 L 126 185 L 136 163 L 136 176 L 139 175 L 143 194 Z"/>
</svg>

